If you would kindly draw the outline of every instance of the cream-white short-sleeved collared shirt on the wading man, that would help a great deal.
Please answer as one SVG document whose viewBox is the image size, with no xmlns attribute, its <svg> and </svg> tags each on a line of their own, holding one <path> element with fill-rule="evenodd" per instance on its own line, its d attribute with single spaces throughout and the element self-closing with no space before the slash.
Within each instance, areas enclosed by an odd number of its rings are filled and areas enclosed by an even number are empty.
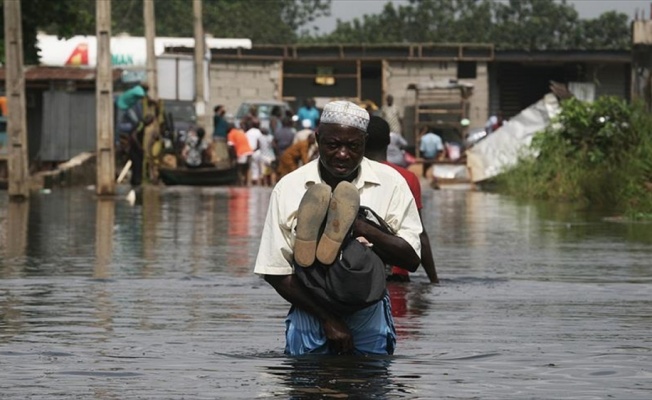
<svg viewBox="0 0 652 400">
<path fill-rule="evenodd" d="M 319 160 L 311 161 L 281 179 L 269 200 L 263 235 L 254 272 L 262 275 L 290 275 L 297 210 L 306 190 L 324 183 Z M 352 182 L 360 192 L 360 204 L 380 215 L 385 222 L 421 254 L 421 219 L 405 179 L 392 167 L 363 158 L 360 173 Z"/>
</svg>

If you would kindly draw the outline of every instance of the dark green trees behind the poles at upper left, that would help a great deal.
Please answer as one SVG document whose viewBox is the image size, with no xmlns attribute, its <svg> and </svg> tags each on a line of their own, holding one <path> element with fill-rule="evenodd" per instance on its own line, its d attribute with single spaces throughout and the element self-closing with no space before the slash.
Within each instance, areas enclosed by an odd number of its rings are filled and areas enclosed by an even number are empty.
<svg viewBox="0 0 652 400">
<path fill-rule="evenodd" d="M 38 62 L 39 31 L 60 37 L 95 34 L 95 0 L 27 0 L 21 6 L 26 64 Z M 204 30 L 256 44 L 294 43 L 303 26 L 330 14 L 330 6 L 331 0 L 204 0 Z M 158 36 L 193 36 L 192 0 L 157 1 L 155 16 Z M 112 1 L 111 20 L 113 34 L 142 36 L 143 1 Z M 0 21 L 4 58 L 4 18 Z"/>
</svg>

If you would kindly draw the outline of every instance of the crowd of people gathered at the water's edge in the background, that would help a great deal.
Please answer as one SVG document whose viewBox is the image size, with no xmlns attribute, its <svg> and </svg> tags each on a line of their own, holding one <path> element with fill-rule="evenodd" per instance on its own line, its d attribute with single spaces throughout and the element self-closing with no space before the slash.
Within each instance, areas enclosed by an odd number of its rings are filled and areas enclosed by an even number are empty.
<svg viewBox="0 0 652 400">
<path fill-rule="evenodd" d="M 406 168 L 414 157 L 406 151 L 407 140 L 402 135 L 403 121 L 394 97 L 388 95 L 385 104 L 370 112 L 380 116 L 389 125 L 390 142 L 387 161 Z M 225 141 L 236 159 L 239 184 L 242 186 L 273 186 L 283 176 L 317 157 L 315 131 L 319 125 L 320 111 L 315 100 L 307 98 L 293 115 L 291 111 L 274 106 L 269 123 L 261 126 L 256 106 L 237 124 L 226 118 L 226 108 L 217 105 L 213 114 L 213 141 Z M 367 109 L 367 111 L 370 111 Z M 161 147 L 161 130 L 165 129 L 165 116 L 160 101 L 148 96 L 146 83 L 137 84 L 116 99 L 117 131 L 124 153 L 131 160 L 131 184 L 139 186 L 145 177 L 156 182 Z M 495 124 L 498 125 L 499 124 Z M 180 162 L 187 168 L 211 166 L 211 137 L 201 127 L 195 127 L 183 138 L 179 152 Z M 420 135 L 420 155 L 423 176 L 428 168 L 445 152 L 440 135 L 427 129 Z"/>
</svg>

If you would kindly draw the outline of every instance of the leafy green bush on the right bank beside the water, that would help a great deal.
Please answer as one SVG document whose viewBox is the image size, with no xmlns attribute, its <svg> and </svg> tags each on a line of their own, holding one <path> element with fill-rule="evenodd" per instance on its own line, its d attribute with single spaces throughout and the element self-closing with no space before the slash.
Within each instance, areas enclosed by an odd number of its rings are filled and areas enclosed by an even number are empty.
<svg viewBox="0 0 652 400">
<path fill-rule="evenodd" d="M 652 216 L 652 116 L 642 104 L 571 98 L 531 146 L 536 156 L 499 176 L 499 190 Z"/>
</svg>

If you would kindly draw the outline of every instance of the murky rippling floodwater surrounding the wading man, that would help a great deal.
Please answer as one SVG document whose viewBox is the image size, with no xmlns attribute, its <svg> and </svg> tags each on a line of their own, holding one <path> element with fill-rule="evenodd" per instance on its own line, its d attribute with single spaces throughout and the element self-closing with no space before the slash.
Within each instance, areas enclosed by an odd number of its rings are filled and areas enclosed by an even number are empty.
<svg viewBox="0 0 652 400">
<path fill-rule="evenodd" d="M 652 398 L 652 225 L 425 190 L 442 283 L 390 287 L 396 354 L 289 358 L 269 193 L 0 193 L 0 398 Z"/>
</svg>

